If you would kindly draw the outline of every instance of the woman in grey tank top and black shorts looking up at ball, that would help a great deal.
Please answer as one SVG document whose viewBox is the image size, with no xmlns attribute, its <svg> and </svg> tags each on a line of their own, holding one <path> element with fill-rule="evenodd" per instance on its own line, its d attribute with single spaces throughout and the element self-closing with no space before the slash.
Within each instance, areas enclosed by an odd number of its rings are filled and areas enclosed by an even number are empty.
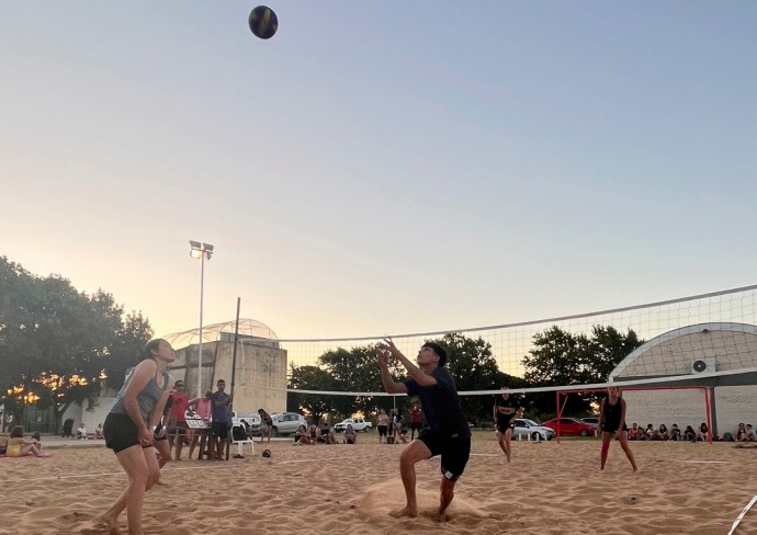
<svg viewBox="0 0 757 535">
<path fill-rule="evenodd" d="M 145 360 L 126 376 L 126 382 L 105 419 L 105 445 L 113 449 L 128 476 L 128 486 L 101 520 L 112 533 L 118 528 L 118 515 L 125 509 L 129 535 L 142 535 L 142 503 L 145 492 L 160 477 L 152 451 L 152 429 L 168 399 L 170 377 L 166 368 L 177 354 L 166 340 L 147 343 Z"/>
</svg>

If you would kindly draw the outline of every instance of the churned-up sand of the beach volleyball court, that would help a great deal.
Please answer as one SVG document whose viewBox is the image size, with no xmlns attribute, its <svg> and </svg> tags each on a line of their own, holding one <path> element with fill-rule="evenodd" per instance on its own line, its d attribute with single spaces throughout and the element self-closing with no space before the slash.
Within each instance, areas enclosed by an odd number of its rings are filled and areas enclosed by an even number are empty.
<svg viewBox="0 0 757 535">
<path fill-rule="evenodd" d="M 169 463 L 147 493 L 146 534 L 304 533 L 613 533 L 726 534 L 757 493 L 757 451 L 733 444 L 632 443 L 632 474 L 613 443 L 605 471 L 599 441 L 513 442 L 508 465 L 490 433 L 476 434 L 449 521 L 436 521 L 438 458 L 417 465 L 419 515 L 404 505 L 398 457 L 404 445 L 292 447 L 272 443 L 270 459 Z M 98 525 L 126 477 L 106 448 L 52 449 L 48 459 L 0 462 L 0 534 L 105 534 Z M 126 533 L 122 515 L 121 531 Z M 749 511 L 736 534 L 757 533 Z"/>
</svg>

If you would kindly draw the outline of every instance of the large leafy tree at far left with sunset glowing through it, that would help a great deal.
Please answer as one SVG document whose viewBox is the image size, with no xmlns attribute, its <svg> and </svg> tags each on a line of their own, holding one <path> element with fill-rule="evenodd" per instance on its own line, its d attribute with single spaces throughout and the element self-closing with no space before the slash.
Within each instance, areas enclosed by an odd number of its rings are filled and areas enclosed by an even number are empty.
<svg viewBox="0 0 757 535">
<path fill-rule="evenodd" d="M 94 402 L 108 365 L 151 334 L 142 315 L 124 323 L 112 295 L 88 296 L 59 275 L 36 277 L 4 257 L 0 295 L 0 387 L 11 405 L 52 407 L 57 430 L 71 403 Z"/>
</svg>

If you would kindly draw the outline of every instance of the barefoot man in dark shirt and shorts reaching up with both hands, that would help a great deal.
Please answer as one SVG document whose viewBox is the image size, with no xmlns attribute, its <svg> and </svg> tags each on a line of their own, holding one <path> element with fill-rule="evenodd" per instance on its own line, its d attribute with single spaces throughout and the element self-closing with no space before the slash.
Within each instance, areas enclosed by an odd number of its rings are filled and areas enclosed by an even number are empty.
<svg viewBox="0 0 757 535">
<path fill-rule="evenodd" d="M 410 362 L 394 344 L 392 339 L 376 349 L 376 362 L 381 382 L 388 394 L 418 396 L 426 413 L 428 429 L 420 432 L 399 455 L 399 475 L 405 487 L 406 504 L 394 511 L 393 516 L 418 515 L 416 497 L 416 463 L 441 455 L 442 479 L 437 514 L 447 520 L 447 508 L 454 498 L 454 487 L 465 470 L 471 456 L 471 430 L 463 414 L 454 379 L 444 367 L 447 351 L 436 342 L 427 342 L 418 352 L 417 365 Z M 407 369 L 410 378 L 397 383 L 389 373 L 389 356 Z"/>
</svg>

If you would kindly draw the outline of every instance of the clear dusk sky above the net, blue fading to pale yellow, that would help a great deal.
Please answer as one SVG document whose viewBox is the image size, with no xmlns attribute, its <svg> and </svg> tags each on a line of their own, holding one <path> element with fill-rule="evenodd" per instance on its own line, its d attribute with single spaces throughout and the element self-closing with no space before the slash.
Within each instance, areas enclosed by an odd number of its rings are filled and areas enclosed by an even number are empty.
<svg viewBox="0 0 757 535">
<path fill-rule="evenodd" d="M 0 1 L 0 255 L 280 339 L 754 284 L 757 3 Z"/>
</svg>

